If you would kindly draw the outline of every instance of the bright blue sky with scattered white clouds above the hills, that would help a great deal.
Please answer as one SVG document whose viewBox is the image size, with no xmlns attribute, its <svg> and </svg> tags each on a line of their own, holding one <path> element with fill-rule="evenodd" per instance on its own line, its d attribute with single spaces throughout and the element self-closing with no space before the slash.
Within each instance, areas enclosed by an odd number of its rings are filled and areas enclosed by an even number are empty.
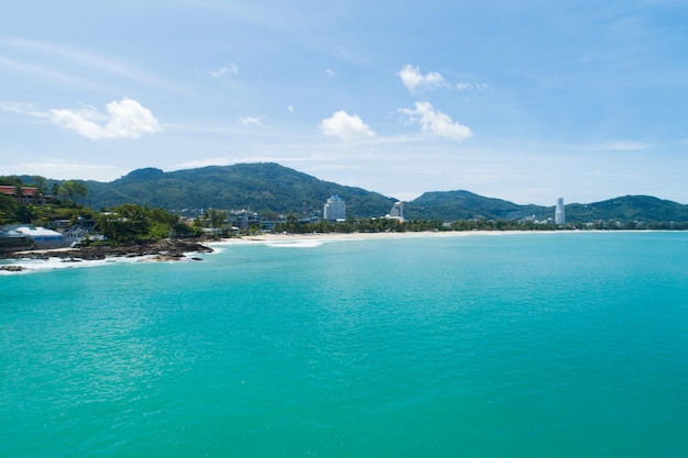
<svg viewBox="0 0 688 458">
<path fill-rule="evenodd" d="M 15 1 L 0 175 L 278 163 L 400 200 L 688 204 L 686 0 Z"/>
</svg>

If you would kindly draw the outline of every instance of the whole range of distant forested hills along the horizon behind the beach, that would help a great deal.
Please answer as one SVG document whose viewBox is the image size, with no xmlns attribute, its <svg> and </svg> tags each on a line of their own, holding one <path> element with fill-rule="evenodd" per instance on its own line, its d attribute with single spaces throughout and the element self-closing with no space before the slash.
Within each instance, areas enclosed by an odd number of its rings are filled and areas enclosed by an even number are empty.
<svg viewBox="0 0 688 458">
<path fill-rule="evenodd" d="M 322 215 L 325 200 L 337 194 L 353 217 L 377 217 L 397 199 L 362 188 L 320 180 L 275 163 L 210 166 L 165 172 L 143 168 L 111 182 L 85 181 L 95 209 L 123 203 L 182 209 L 251 210 L 258 213 Z M 520 220 L 554 217 L 554 205 L 521 205 L 465 190 L 425 192 L 404 203 L 404 216 L 423 220 Z M 625 196 L 566 205 L 567 222 L 596 220 L 688 222 L 688 205 L 650 196 Z"/>
</svg>

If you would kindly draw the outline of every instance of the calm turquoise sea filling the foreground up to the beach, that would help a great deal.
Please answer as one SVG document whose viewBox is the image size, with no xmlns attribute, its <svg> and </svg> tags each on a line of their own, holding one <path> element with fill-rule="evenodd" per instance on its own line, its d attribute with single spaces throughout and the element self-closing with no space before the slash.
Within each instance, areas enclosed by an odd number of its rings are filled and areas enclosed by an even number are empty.
<svg viewBox="0 0 688 458">
<path fill-rule="evenodd" d="M 0 456 L 688 456 L 688 233 L 214 247 L 1 275 Z"/>
</svg>

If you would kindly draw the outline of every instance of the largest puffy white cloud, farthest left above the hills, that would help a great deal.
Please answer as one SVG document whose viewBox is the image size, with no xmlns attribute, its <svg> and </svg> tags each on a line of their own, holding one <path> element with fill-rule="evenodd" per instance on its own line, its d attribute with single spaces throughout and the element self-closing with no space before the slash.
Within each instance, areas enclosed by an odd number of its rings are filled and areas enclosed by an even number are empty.
<svg viewBox="0 0 688 458">
<path fill-rule="evenodd" d="M 138 138 L 143 134 L 159 132 L 160 127 L 151 111 L 137 101 L 123 98 L 106 105 L 108 114 L 93 108 L 81 110 L 51 110 L 51 120 L 69 131 L 90 139 Z"/>
</svg>

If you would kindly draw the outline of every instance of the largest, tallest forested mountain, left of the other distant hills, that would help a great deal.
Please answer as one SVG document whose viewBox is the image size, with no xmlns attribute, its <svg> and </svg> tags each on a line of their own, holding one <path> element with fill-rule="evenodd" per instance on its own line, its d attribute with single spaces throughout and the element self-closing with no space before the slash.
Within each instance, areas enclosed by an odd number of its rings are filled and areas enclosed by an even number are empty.
<svg viewBox="0 0 688 458">
<path fill-rule="evenodd" d="M 237 164 L 164 172 L 134 170 L 103 183 L 87 181 L 96 209 L 137 203 L 167 210 L 226 209 L 258 213 L 322 215 L 325 200 L 339 194 L 347 215 L 380 216 L 395 200 L 360 188 L 323 181 L 278 164 Z"/>
</svg>

